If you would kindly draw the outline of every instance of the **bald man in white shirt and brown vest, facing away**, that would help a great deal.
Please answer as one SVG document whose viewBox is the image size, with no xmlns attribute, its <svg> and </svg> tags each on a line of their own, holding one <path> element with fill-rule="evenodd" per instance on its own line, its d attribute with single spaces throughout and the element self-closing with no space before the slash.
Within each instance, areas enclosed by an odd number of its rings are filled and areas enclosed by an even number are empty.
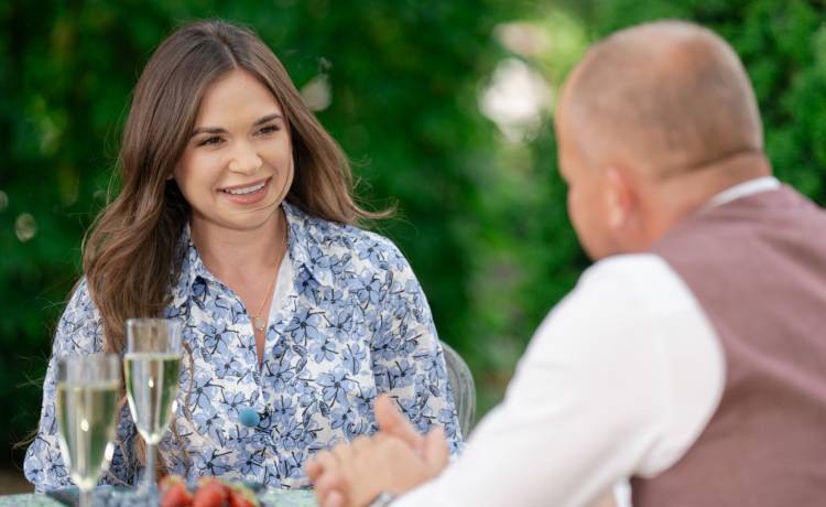
<svg viewBox="0 0 826 507">
<path fill-rule="evenodd" d="M 504 401 L 446 465 L 377 401 L 381 432 L 308 466 L 323 505 L 826 503 L 826 213 L 771 176 L 754 95 L 719 36 L 618 32 L 556 115 L 568 213 L 596 260 Z"/>
</svg>

